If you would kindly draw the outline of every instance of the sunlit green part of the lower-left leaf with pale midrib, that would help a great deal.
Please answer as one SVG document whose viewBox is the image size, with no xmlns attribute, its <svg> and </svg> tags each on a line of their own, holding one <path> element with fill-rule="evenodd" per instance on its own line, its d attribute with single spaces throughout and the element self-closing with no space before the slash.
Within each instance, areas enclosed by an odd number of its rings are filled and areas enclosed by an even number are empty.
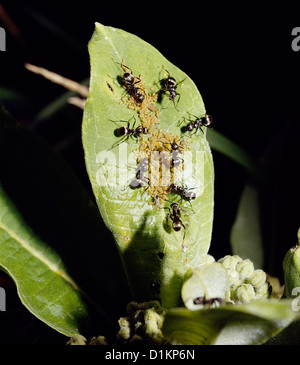
<svg viewBox="0 0 300 365">
<path fill-rule="evenodd" d="M 59 256 L 39 239 L 0 186 L 0 262 L 14 279 L 23 304 L 38 318 L 66 335 L 87 318 L 80 288 Z"/>
</svg>

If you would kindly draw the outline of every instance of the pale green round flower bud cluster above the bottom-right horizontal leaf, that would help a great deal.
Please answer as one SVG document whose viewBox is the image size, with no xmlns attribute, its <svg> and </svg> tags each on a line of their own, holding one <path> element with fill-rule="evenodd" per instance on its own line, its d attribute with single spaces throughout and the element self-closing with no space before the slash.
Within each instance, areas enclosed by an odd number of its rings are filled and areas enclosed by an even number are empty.
<svg viewBox="0 0 300 365">
<path fill-rule="evenodd" d="M 229 277 L 226 302 L 234 304 L 248 303 L 256 299 L 266 299 L 271 294 L 271 286 L 263 270 L 254 269 L 252 261 L 243 260 L 237 255 L 226 255 L 219 262 Z"/>
</svg>

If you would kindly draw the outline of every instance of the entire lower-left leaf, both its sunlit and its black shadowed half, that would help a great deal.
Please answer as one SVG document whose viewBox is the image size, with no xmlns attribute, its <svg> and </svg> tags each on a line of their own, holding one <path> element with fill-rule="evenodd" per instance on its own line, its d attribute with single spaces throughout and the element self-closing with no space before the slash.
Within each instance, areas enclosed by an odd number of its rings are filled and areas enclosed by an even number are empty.
<svg viewBox="0 0 300 365">
<path fill-rule="evenodd" d="M 125 280 L 98 209 L 69 166 L 2 107 L 0 166 L 0 267 L 23 304 L 67 336 L 110 326 Z"/>
</svg>

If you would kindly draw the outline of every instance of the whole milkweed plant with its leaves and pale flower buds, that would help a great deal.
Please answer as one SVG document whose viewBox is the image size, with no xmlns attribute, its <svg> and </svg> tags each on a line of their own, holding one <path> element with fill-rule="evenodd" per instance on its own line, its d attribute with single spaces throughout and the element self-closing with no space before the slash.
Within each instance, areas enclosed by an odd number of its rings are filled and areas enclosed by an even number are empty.
<svg viewBox="0 0 300 365">
<path fill-rule="evenodd" d="M 214 123 L 196 85 L 120 29 L 96 23 L 89 53 L 82 143 L 97 207 L 65 163 L 1 110 L 1 152 L 17 159 L 17 140 L 24 154 L 15 161 L 24 194 L 11 192 L 8 164 L 0 184 L 0 265 L 21 301 L 72 345 L 276 343 L 300 318 L 299 247 L 283 260 L 284 286 L 251 258 L 210 254 Z M 39 214 L 30 226 L 20 208 L 34 171 L 52 187 L 35 186 L 39 211 L 45 201 L 53 210 L 43 235 Z"/>
</svg>

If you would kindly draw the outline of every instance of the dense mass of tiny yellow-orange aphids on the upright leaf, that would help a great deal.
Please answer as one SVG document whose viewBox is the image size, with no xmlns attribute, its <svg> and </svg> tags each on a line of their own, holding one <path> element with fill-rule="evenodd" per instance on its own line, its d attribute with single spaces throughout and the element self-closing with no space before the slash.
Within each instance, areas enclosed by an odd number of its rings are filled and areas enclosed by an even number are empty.
<svg viewBox="0 0 300 365">
<path fill-rule="evenodd" d="M 130 70 L 122 61 L 124 72 Z M 130 70 L 131 71 L 131 70 Z M 184 169 L 183 161 L 180 159 L 180 166 L 174 166 L 172 152 L 175 150 L 183 154 L 190 149 L 189 143 L 183 141 L 179 136 L 165 132 L 159 127 L 160 109 L 156 106 L 157 93 L 148 94 L 147 88 L 143 83 L 142 75 L 134 78 L 138 88 L 144 94 L 142 102 L 137 102 L 135 98 L 127 94 L 121 99 L 129 109 L 136 110 L 140 118 L 142 127 L 148 129 L 148 133 L 140 139 L 138 150 L 135 151 L 137 164 L 148 158 L 148 186 L 145 187 L 147 193 L 152 197 L 150 205 L 159 207 L 167 200 L 170 193 L 170 186 L 174 183 L 177 173 Z M 153 158 L 158 156 L 158 158 Z"/>
</svg>

